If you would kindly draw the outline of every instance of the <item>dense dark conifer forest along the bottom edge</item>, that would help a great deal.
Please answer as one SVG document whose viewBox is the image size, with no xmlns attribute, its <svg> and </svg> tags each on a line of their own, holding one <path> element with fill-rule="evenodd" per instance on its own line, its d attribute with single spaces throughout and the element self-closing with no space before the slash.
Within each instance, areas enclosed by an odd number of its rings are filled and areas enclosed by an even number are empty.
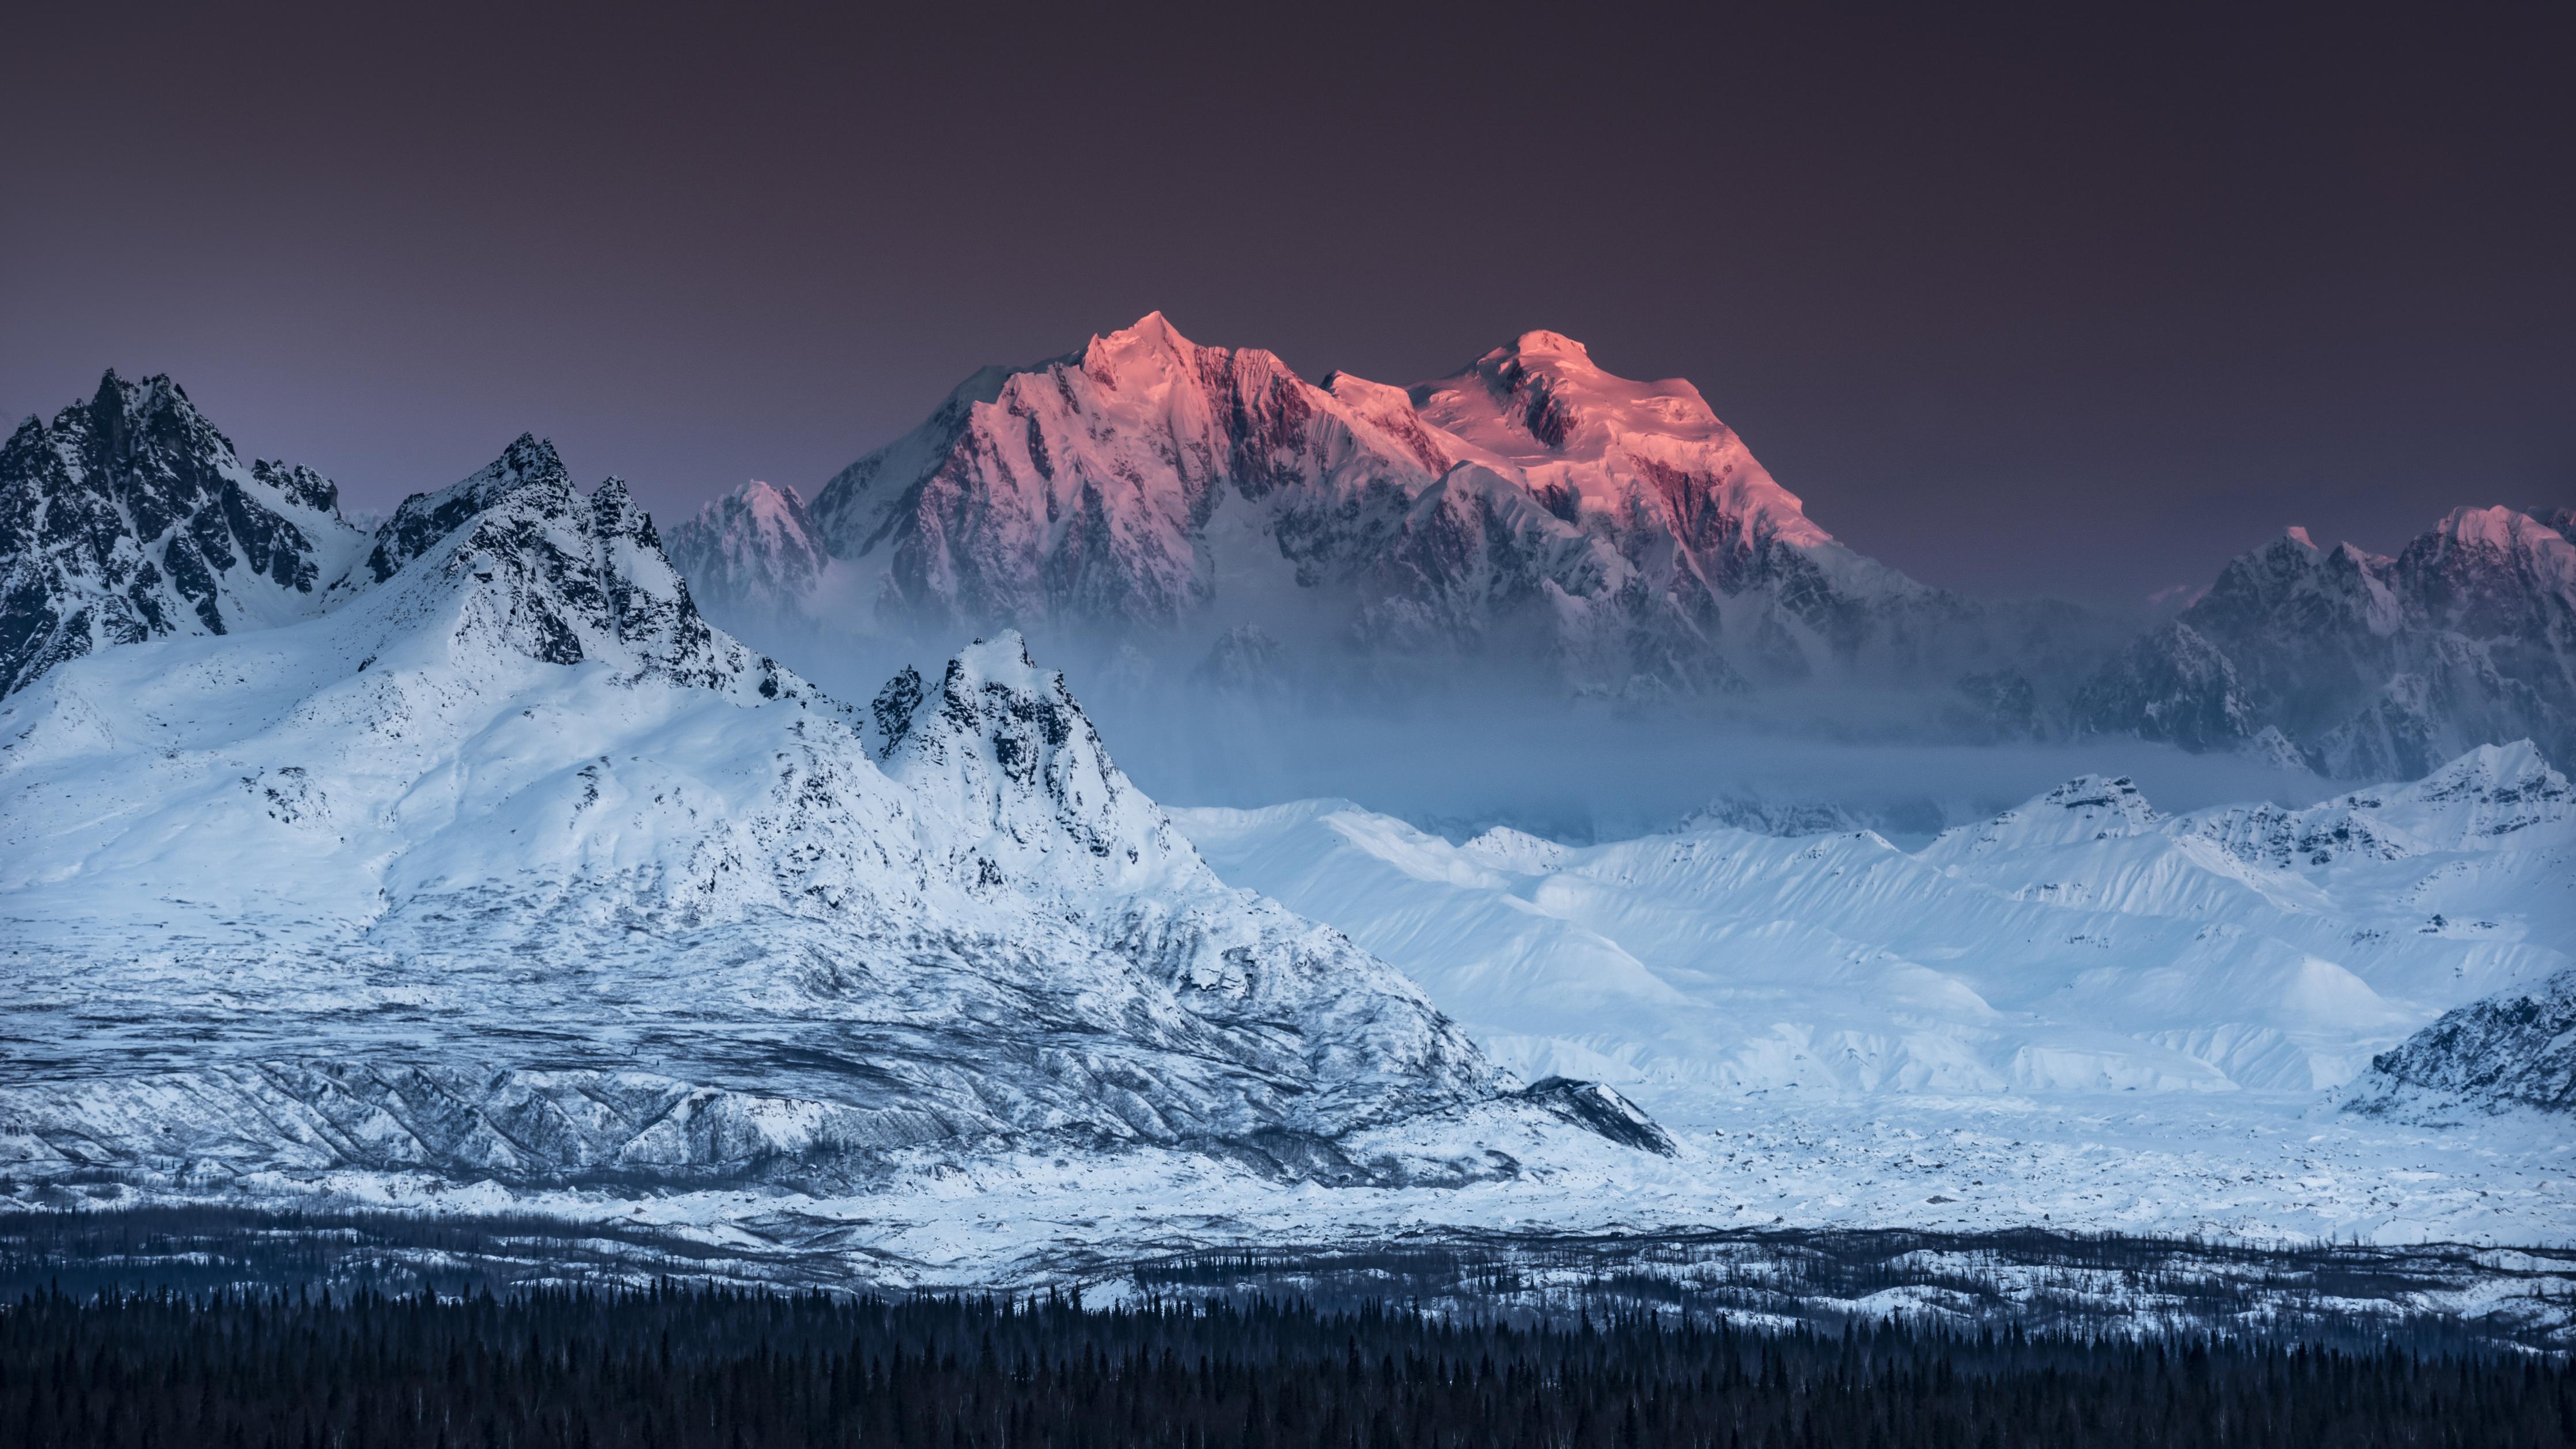
<svg viewBox="0 0 2576 1449">
<path fill-rule="evenodd" d="M 2563 1356 L 1512 1328 L 1278 1299 L 111 1294 L 0 1305 L 0 1441 L 52 1446 L 2576 1446 Z"/>
</svg>

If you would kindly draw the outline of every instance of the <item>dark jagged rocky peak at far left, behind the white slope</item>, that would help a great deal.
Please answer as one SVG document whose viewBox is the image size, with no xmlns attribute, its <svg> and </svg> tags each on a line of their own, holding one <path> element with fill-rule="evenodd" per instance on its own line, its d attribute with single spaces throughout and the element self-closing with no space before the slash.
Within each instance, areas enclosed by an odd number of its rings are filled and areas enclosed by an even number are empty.
<svg viewBox="0 0 2576 1449">
<path fill-rule="evenodd" d="M 242 467 L 175 382 L 111 371 L 0 443 L 0 696 L 106 645 L 309 619 L 363 549 L 327 477 Z"/>
</svg>

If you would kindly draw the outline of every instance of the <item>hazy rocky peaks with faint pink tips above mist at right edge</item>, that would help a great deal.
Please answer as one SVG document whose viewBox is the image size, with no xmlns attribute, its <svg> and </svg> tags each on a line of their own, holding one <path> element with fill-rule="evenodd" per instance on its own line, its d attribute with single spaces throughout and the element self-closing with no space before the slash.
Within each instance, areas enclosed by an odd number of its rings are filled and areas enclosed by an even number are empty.
<svg viewBox="0 0 2576 1449">
<path fill-rule="evenodd" d="M 2187 748 L 2277 727 L 2339 779 L 2517 737 L 2576 758 L 2576 544 L 2512 508 L 2458 508 L 2396 557 L 2290 529 L 2092 681 L 2081 719 Z"/>
</svg>

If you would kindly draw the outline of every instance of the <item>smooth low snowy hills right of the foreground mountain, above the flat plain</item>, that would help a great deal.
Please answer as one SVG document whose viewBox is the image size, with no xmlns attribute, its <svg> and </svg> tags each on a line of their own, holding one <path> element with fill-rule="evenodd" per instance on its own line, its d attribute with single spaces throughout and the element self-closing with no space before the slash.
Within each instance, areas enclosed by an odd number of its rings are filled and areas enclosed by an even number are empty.
<svg viewBox="0 0 2576 1449">
<path fill-rule="evenodd" d="M 2318 1093 L 2576 964 L 2576 794 L 2530 745 L 2313 810 L 2166 817 L 2084 776 L 1919 853 L 1726 825 L 1453 846 L 1347 802 L 1177 820 L 1504 1062 L 1664 1116 L 1785 1088 Z"/>
</svg>

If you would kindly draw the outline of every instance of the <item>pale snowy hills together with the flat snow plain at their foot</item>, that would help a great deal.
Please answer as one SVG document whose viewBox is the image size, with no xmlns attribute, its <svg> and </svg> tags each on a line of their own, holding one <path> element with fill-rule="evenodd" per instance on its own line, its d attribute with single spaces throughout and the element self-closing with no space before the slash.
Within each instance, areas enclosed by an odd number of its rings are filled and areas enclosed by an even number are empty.
<svg viewBox="0 0 2576 1449">
<path fill-rule="evenodd" d="M 1654 1111 L 1685 1155 L 1605 1225 L 2576 1235 L 2566 1116 L 2344 1109 L 2372 1055 L 2576 964 L 2576 792 L 2530 745 L 2311 810 L 2166 817 L 2076 779 L 1914 853 L 1453 843 L 1350 802 L 1175 820 L 1504 1065 Z"/>
</svg>

